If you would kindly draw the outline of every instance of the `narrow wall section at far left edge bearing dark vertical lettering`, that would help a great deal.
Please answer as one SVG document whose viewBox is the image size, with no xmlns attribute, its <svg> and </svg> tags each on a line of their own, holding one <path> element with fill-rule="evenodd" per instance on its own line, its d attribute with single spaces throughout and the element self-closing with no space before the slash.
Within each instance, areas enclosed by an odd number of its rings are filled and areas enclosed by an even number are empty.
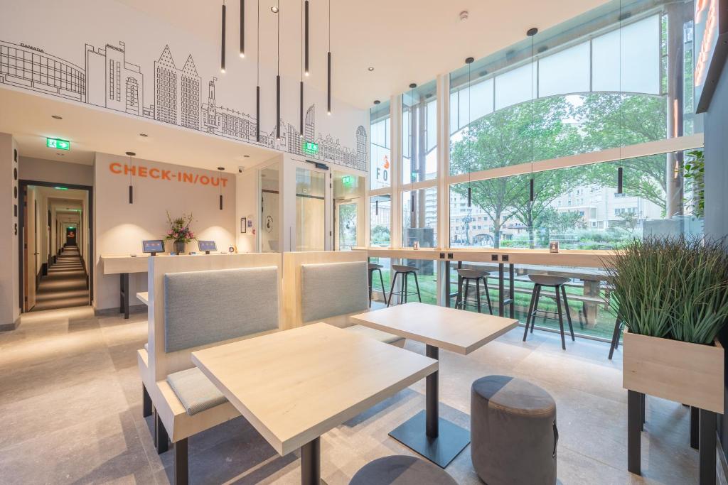
<svg viewBox="0 0 728 485">
<path fill-rule="evenodd" d="M 13 175 L 17 163 L 13 152 L 17 149 L 11 135 L 0 133 L 0 329 L 15 328 L 15 321 L 20 315 L 18 302 L 20 275 L 18 273 L 18 220 L 14 207 L 20 204 L 20 193 L 15 198 L 14 189 L 17 180 Z M 20 206 L 18 205 L 18 209 Z"/>
</svg>

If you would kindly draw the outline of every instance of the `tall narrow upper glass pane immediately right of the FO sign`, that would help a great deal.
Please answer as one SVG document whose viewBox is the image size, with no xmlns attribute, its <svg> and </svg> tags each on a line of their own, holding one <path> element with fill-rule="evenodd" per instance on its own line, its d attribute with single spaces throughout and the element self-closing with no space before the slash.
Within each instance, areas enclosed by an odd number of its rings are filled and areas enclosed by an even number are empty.
<svg viewBox="0 0 728 485">
<path fill-rule="evenodd" d="M 402 183 L 438 175 L 437 86 L 435 81 L 402 95 Z"/>
</svg>

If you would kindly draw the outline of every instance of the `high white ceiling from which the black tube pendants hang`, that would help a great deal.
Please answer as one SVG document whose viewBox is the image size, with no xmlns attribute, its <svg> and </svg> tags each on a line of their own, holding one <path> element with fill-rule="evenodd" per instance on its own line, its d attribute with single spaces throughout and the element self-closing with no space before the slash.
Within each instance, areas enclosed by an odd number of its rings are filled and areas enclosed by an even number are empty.
<svg viewBox="0 0 728 485">
<path fill-rule="evenodd" d="M 166 20 L 210 44 L 218 56 L 222 0 L 117 0 Z M 281 73 L 298 77 L 301 69 L 302 0 L 260 0 L 261 63 L 274 67 L 276 16 L 280 2 Z M 240 1 L 227 0 L 227 62 L 256 62 L 256 9 L 247 0 L 246 56 L 237 56 Z M 606 0 L 331 0 L 333 96 L 358 108 L 404 92 L 526 37 L 531 27 L 552 27 Z M 459 14 L 469 12 L 467 21 Z M 328 0 L 310 0 L 311 75 L 306 81 L 326 89 Z M 368 67 L 374 71 L 369 72 Z"/>
</svg>

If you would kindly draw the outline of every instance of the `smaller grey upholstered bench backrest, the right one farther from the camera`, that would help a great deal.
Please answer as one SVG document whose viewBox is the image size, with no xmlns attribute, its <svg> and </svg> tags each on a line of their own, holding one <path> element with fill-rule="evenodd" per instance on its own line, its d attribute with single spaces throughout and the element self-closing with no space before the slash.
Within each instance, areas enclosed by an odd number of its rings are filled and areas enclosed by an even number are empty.
<svg viewBox="0 0 728 485">
<path fill-rule="evenodd" d="M 301 319 L 304 322 L 369 308 L 365 261 L 301 265 Z"/>
</svg>

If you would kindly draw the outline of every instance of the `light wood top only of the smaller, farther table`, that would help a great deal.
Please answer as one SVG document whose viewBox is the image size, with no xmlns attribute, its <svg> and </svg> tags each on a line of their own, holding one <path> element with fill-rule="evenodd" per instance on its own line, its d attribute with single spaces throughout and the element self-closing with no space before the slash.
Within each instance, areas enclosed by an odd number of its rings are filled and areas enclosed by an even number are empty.
<svg viewBox="0 0 728 485">
<path fill-rule="evenodd" d="M 352 321 L 467 355 L 515 329 L 518 320 L 413 302 L 350 317 Z"/>
</svg>

